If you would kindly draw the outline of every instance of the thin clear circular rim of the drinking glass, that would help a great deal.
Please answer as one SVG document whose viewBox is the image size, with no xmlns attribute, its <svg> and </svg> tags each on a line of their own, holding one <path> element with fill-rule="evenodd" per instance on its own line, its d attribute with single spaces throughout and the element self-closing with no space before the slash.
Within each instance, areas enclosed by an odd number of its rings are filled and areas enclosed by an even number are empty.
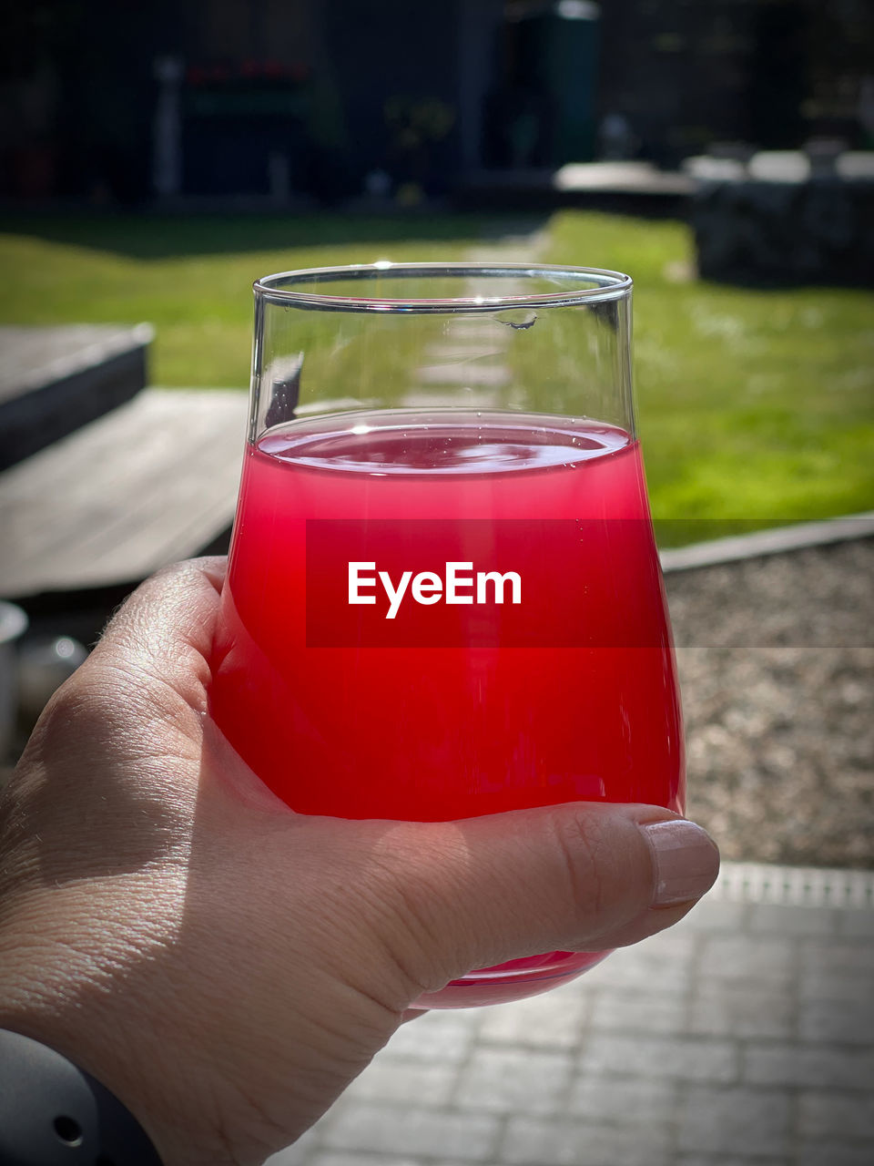
<svg viewBox="0 0 874 1166">
<path fill-rule="evenodd" d="M 459 279 L 500 276 L 559 276 L 568 280 L 587 280 L 594 287 L 573 287 L 566 292 L 538 292 L 520 295 L 465 295 L 451 297 L 414 296 L 395 298 L 389 296 L 330 295 L 324 292 L 308 292 L 308 283 L 332 280 L 357 280 L 386 274 L 400 279 Z M 294 283 L 294 287 L 283 286 Z M 298 288 L 302 285 L 304 290 Z M 403 312 L 494 312 L 507 308 L 555 308 L 577 304 L 605 303 L 620 300 L 632 292 L 633 280 L 622 272 L 602 267 L 568 267 L 558 264 L 524 262 L 429 262 L 394 264 L 379 260 L 375 264 L 350 264 L 343 267 L 306 267 L 299 271 L 277 272 L 262 275 L 252 285 L 256 298 L 284 307 L 312 308 L 320 311 L 403 311 Z"/>
</svg>

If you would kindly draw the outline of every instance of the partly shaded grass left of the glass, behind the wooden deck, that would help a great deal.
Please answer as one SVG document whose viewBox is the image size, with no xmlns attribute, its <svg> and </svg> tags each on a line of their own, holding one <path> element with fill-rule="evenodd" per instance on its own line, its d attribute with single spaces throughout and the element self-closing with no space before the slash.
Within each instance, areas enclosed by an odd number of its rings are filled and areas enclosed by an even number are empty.
<svg viewBox="0 0 874 1166">
<path fill-rule="evenodd" d="M 252 282 L 378 259 L 451 260 L 484 224 L 343 216 L 34 218 L 0 224 L 0 321 L 155 325 L 156 385 L 247 387 Z"/>
</svg>

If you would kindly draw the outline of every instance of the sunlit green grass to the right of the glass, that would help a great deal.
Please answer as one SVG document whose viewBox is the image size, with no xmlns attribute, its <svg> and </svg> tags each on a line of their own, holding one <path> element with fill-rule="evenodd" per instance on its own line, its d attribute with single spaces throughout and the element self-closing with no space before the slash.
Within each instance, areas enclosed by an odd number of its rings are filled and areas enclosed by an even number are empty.
<svg viewBox="0 0 874 1166">
<path fill-rule="evenodd" d="M 874 295 L 689 279 L 678 223 L 564 212 L 549 260 L 634 276 L 660 541 L 874 508 Z"/>
</svg>

